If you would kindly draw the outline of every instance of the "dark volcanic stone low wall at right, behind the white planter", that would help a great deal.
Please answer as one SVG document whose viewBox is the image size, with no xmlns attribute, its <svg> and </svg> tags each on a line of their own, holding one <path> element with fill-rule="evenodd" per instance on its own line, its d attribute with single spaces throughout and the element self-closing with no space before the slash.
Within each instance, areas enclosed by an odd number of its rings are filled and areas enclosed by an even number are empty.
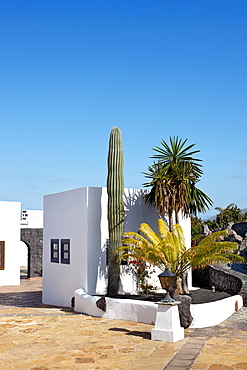
<svg viewBox="0 0 247 370">
<path fill-rule="evenodd" d="M 247 306 L 247 275 L 222 266 L 207 266 L 192 272 L 193 286 L 209 288 L 215 286 L 230 294 L 239 294 Z"/>
</svg>

